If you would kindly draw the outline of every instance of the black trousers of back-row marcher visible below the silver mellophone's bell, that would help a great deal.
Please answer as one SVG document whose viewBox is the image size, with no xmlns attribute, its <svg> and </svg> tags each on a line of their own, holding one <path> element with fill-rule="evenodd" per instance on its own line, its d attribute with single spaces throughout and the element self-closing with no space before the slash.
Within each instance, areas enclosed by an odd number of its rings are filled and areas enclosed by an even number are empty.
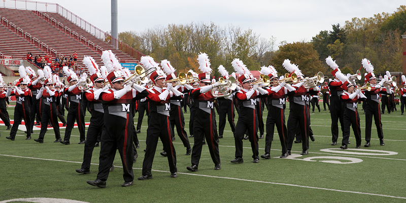
<svg viewBox="0 0 406 203">
<path fill-rule="evenodd" d="M 234 104 L 233 101 L 230 99 L 218 99 L 217 104 L 219 106 L 219 136 L 222 136 L 224 133 L 224 127 L 227 117 L 227 121 L 230 124 L 231 131 L 234 133 L 235 131 L 235 123 L 234 123 Z"/>
</svg>

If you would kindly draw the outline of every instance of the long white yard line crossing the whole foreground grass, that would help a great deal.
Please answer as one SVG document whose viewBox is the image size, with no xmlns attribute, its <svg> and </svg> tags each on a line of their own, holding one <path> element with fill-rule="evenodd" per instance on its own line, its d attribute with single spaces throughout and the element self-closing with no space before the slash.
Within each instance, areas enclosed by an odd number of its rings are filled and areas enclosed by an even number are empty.
<svg viewBox="0 0 406 203">
<path fill-rule="evenodd" d="M 9 157 L 17 157 L 17 158 L 47 160 L 47 161 L 61 161 L 61 162 L 68 162 L 68 163 L 82 163 L 82 162 L 78 162 L 78 161 L 65 161 L 65 160 L 56 160 L 56 159 L 14 156 L 14 155 L 7 155 L 7 154 L 0 154 L 0 155 L 1 156 L 9 156 Z M 91 163 L 91 164 L 92 165 L 98 165 L 97 163 Z M 115 166 L 115 167 L 122 168 L 122 166 Z M 142 170 L 142 168 L 133 168 L 133 169 Z M 171 172 L 168 172 L 168 171 L 160 171 L 160 170 L 152 170 L 152 171 L 154 171 L 154 172 L 162 172 L 162 173 L 171 173 Z M 192 173 L 180 173 L 180 172 L 178 172 L 178 174 L 189 175 L 189 176 L 201 176 L 201 177 L 209 177 L 209 178 L 228 179 L 228 180 L 238 180 L 238 181 L 255 182 L 255 183 L 267 183 L 267 184 L 273 184 L 273 185 L 285 185 L 285 186 L 293 186 L 293 187 L 301 187 L 301 188 L 328 190 L 328 191 L 335 191 L 335 192 L 348 192 L 348 193 L 354 193 L 354 194 L 366 194 L 366 195 L 383 196 L 383 197 L 391 197 L 391 198 L 398 198 L 398 199 L 406 199 L 406 197 L 400 197 L 400 196 L 392 196 L 392 195 L 385 195 L 385 194 L 374 194 L 374 193 L 367 193 L 367 192 L 356 192 L 356 191 L 348 191 L 348 190 L 337 190 L 337 189 L 330 189 L 330 188 L 303 186 L 303 185 L 295 185 L 295 184 L 287 184 L 287 183 L 274 183 L 274 182 L 267 182 L 267 181 L 257 181 L 257 180 L 241 179 L 241 178 L 209 176 L 209 175 L 192 174 Z"/>
</svg>

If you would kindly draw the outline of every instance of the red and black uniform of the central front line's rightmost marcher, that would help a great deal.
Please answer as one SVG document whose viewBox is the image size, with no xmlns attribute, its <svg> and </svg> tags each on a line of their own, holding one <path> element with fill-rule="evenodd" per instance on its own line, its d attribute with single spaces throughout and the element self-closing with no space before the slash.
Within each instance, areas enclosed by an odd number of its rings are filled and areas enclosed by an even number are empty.
<svg viewBox="0 0 406 203">
<path fill-rule="evenodd" d="M 307 96 L 308 90 L 303 86 L 292 85 L 296 90 L 289 91 L 289 118 L 287 122 L 288 127 L 288 143 L 287 150 L 292 150 L 293 140 L 295 138 L 296 127 L 300 129 L 300 136 L 302 141 L 303 152 L 309 149 L 309 108 L 307 103 L 309 97 Z"/>
</svg>

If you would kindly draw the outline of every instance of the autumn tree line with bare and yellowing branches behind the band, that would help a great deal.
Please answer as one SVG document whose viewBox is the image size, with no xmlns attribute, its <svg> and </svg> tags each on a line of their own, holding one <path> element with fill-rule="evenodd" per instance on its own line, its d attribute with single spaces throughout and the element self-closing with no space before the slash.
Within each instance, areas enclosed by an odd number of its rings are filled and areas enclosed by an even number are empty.
<svg viewBox="0 0 406 203">
<path fill-rule="evenodd" d="M 369 18 L 352 18 L 345 25 L 332 24 L 332 30 L 321 30 L 310 42 L 286 43 L 276 50 L 276 38 L 265 39 L 251 29 L 228 25 L 220 27 L 214 22 L 169 24 L 144 31 L 124 31 L 119 40 L 152 56 L 156 61 L 167 59 L 177 72 L 198 71 L 199 52 L 206 52 L 214 76 L 220 76 L 217 67 L 223 65 L 234 72 L 231 61 L 240 58 L 247 67 L 260 70 L 265 65 L 276 67 L 280 75 L 284 59 L 299 66 L 302 73 L 313 76 L 321 71 L 331 75 L 325 58 L 331 56 L 344 73 L 360 69 L 361 59 L 368 58 L 375 73 L 401 72 L 402 38 L 406 31 L 406 7 L 394 13 L 380 13 Z M 364 71 L 361 69 L 361 72 Z"/>
</svg>

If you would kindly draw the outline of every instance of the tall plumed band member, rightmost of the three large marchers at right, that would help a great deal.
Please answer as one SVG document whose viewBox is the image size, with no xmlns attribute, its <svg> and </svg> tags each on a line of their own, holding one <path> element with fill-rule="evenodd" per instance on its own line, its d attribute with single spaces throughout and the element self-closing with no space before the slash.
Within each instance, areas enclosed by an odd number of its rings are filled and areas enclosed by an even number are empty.
<svg viewBox="0 0 406 203">
<path fill-rule="evenodd" d="M 385 82 L 385 79 L 382 79 L 380 86 L 377 86 L 377 78 L 374 74 L 374 66 L 370 64 L 369 60 L 364 58 L 362 59 L 362 66 L 368 73 L 365 76 L 365 81 L 369 82 L 371 85 L 371 90 L 365 91 L 366 104 L 365 104 L 365 141 L 366 144 L 364 147 L 370 147 L 371 139 L 371 127 L 372 127 L 372 117 L 374 116 L 375 125 L 377 126 L 378 138 L 380 145 L 385 145 L 384 142 L 384 133 L 382 130 L 381 122 L 381 108 L 379 107 L 379 94 L 381 92 L 381 87 Z"/>
</svg>

